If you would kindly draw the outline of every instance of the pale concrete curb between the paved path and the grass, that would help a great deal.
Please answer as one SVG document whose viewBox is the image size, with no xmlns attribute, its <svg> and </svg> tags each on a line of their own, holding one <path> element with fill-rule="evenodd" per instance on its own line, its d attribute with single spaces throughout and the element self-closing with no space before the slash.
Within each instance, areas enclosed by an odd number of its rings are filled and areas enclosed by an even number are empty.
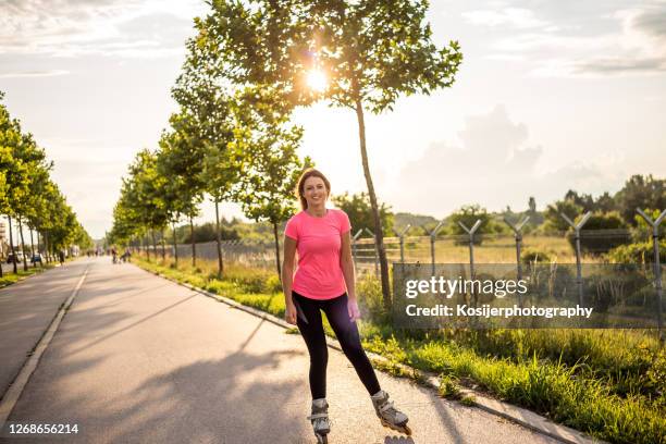
<svg viewBox="0 0 666 444">
<path fill-rule="evenodd" d="M 138 266 L 137 266 L 138 267 Z M 190 284 L 186 284 L 186 283 L 182 283 L 178 282 L 172 278 L 169 278 L 164 274 L 161 274 L 159 272 L 156 271 L 151 271 L 151 270 L 146 270 L 141 267 L 138 267 L 139 269 L 155 274 L 159 278 L 165 279 L 170 282 L 173 282 L 177 285 L 184 286 L 187 289 L 190 289 L 193 292 L 199 293 L 203 296 L 210 297 L 212 299 L 215 299 L 218 301 L 224 303 L 235 309 L 245 311 L 247 313 L 250 313 L 257 318 L 261 318 L 264 319 L 271 323 L 274 323 L 279 326 L 282 326 L 284 329 L 294 329 L 295 326 L 287 323 L 286 321 L 284 321 L 283 319 L 280 319 L 271 313 L 268 313 L 266 311 L 261 311 L 257 308 L 254 307 L 248 307 L 245 306 L 240 303 L 237 303 L 233 299 L 230 299 L 227 297 L 224 297 L 222 295 L 217 295 L 214 293 L 210 293 L 207 292 L 206 289 L 202 288 L 198 288 L 194 285 Z M 329 347 L 336 349 L 338 351 L 343 351 L 342 347 L 340 346 L 340 343 L 336 340 L 333 340 L 329 336 L 326 336 L 326 344 Z M 381 362 L 386 362 L 386 363 L 391 363 L 393 367 L 397 367 L 399 368 L 402 371 L 409 373 L 409 374 L 414 374 L 414 375 L 418 375 L 418 380 L 419 382 L 424 385 L 428 386 L 430 388 L 434 388 L 435 391 L 439 392 L 440 390 L 440 379 L 437 378 L 437 375 L 435 373 L 431 373 L 431 372 L 425 372 L 422 370 L 418 370 L 415 369 L 412 367 L 406 366 L 404 363 L 393 363 L 391 362 L 387 358 L 381 356 L 381 355 L 377 355 L 371 351 L 366 351 L 368 357 L 370 357 L 373 360 L 378 360 Z M 383 371 L 381 369 L 378 369 L 380 371 Z M 594 439 L 591 437 L 582 432 L 579 432 L 578 430 L 574 430 L 571 428 L 568 428 L 566 425 L 562 425 L 562 424 L 557 424 L 553 421 L 551 421 L 550 419 L 535 414 L 531 410 L 528 410 L 526 408 L 522 407 L 517 407 L 507 403 L 504 403 L 502 400 L 497 400 L 495 398 L 492 398 L 483 393 L 479 393 L 477 391 L 473 391 L 471 388 L 460 388 L 460 394 L 464 397 L 473 397 L 473 406 L 479 407 L 480 409 L 491 414 L 491 415 L 495 415 L 498 417 L 502 417 L 504 419 L 508 419 L 513 422 L 516 422 L 527 429 L 530 429 L 532 431 L 539 432 L 541 434 L 544 434 L 546 436 L 553 437 L 555 440 L 558 440 L 563 443 L 567 443 L 567 444 L 593 444 L 593 443 L 599 443 L 599 444 L 604 444 L 606 443 L 605 441 L 599 440 L 599 439 Z M 449 399 L 451 400 L 451 399 Z"/>
</svg>

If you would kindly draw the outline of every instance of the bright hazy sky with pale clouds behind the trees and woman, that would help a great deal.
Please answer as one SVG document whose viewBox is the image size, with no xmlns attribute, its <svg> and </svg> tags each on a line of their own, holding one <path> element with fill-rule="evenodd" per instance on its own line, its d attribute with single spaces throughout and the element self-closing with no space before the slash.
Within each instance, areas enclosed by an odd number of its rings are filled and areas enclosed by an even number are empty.
<svg viewBox="0 0 666 444">
<path fill-rule="evenodd" d="M 54 161 L 95 238 L 112 225 L 135 153 L 157 148 L 198 0 L 0 0 L 0 90 Z M 432 0 L 437 46 L 457 40 L 453 87 L 367 115 L 370 169 L 394 211 L 467 203 L 543 209 L 572 188 L 615 193 L 666 176 L 666 1 Z M 366 190 L 350 110 L 298 109 L 299 150 L 333 194 Z M 213 220 L 210 205 L 199 221 Z M 223 206 L 223 215 L 240 215 Z"/>
</svg>

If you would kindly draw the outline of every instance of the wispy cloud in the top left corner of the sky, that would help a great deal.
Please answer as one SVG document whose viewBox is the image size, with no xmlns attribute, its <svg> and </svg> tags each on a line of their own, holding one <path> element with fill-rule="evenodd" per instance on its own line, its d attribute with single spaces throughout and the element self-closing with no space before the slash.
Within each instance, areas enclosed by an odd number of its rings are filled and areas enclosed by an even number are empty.
<svg viewBox="0 0 666 444">
<path fill-rule="evenodd" d="M 183 51 L 203 2 L 10 0 L 0 3 L 0 54 L 168 57 Z"/>
</svg>

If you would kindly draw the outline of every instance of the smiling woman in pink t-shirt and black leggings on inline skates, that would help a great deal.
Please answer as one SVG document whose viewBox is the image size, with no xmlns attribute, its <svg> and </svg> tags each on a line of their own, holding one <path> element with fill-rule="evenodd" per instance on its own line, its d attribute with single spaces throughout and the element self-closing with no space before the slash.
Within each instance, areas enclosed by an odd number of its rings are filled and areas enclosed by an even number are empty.
<svg viewBox="0 0 666 444">
<path fill-rule="evenodd" d="M 331 430 L 326 403 L 328 348 L 321 321 L 323 310 L 343 351 L 351 361 L 371 395 L 382 424 L 410 434 L 407 416 L 393 407 L 388 394 L 381 390 L 370 360 L 358 335 L 360 318 L 356 300 L 349 218 L 344 211 L 326 209 L 331 184 L 314 169 L 304 172 L 297 195 L 303 211 L 294 215 L 284 231 L 282 286 L 285 295 L 285 319 L 298 325 L 310 353 L 311 420 L 319 443 L 326 442 Z M 294 275 L 294 256 L 298 250 L 298 269 Z"/>
</svg>

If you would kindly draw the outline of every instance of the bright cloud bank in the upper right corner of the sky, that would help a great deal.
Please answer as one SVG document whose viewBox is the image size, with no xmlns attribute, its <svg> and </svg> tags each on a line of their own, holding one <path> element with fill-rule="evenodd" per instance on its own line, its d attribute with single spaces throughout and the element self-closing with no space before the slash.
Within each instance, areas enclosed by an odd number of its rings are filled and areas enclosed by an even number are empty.
<svg viewBox="0 0 666 444">
<path fill-rule="evenodd" d="M 486 24 L 511 23 L 502 14 L 484 17 Z M 595 17 L 588 16 L 576 26 L 564 18 L 554 24 L 539 21 L 538 26 L 536 21 L 528 20 L 535 13 L 522 17 L 525 32 L 495 40 L 488 59 L 531 63 L 529 75 L 541 77 L 659 75 L 666 71 L 666 2 L 597 11 Z"/>
</svg>

